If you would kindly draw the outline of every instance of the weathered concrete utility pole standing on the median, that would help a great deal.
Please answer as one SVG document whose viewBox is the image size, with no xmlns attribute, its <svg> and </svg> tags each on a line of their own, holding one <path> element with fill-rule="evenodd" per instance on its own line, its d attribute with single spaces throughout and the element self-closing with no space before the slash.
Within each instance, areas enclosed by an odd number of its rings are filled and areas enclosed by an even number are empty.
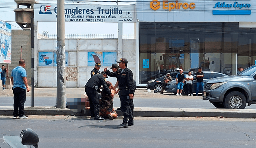
<svg viewBox="0 0 256 148">
<path fill-rule="evenodd" d="M 64 0 L 57 0 L 57 108 L 66 107 Z"/>
</svg>

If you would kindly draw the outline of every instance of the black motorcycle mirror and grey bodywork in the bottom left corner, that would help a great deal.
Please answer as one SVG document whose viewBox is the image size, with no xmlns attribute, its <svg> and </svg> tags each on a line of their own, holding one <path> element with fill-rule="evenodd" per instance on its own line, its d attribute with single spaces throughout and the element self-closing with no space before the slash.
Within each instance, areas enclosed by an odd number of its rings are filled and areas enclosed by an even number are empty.
<svg viewBox="0 0 256 148">
<path fill-rule="evenodd" d="M 3 136 L 3 140 L 11 148 L 38 148 L 39 138 L 31 128 L 22 130 L 20 136 Z"/>
</svg>

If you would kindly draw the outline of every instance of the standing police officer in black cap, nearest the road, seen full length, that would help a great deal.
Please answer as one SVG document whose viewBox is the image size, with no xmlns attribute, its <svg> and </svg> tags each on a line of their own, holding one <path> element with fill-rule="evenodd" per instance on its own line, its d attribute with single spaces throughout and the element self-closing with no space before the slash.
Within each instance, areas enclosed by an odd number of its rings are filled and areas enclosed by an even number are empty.
<svg viewBox="0 0 256 148">
<path fill-rule="evenodd" d="M 121 101 L 121 111 L 124 113 L 123 122 L 117 128 L 126 128 L 128 125 L 134 125 L 132 109 L 134 108 L 133 98 L 136 86 L 133 81 L 132 71 L 127 68 L 127 59 L 121 58 L 117 62 L 120 68 L 117 71 L 118 86 L 120 89 L 118 95 Z"/>
</svg>

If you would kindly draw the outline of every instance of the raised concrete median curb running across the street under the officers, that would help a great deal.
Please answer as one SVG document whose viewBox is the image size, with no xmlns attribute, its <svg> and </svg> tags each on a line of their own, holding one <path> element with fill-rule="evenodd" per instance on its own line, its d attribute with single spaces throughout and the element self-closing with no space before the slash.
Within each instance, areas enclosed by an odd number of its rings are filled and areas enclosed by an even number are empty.
<svg viewBox="0 0 256 148">
<path fill-rule="evenodd" d="M 116 109 L 115 107 L 114 109 Z M 90 116 L 90 111 L 73 112 L 70 109 L 57 109 L 56 107 L 25 107 L 26 115 L 70 115 Z M 122 116 L 121 110 L 116 110 L 118 116 Z M 0 115 L 11 116 L 13 107 L 0 107 Z M 192 108 L 156 108 L 156 107 L 136 107 L 134 116 L 144 117 L 216 117 L 225 118 L 256 118 L 255 109 L 192 109 Z"/>
</svg>

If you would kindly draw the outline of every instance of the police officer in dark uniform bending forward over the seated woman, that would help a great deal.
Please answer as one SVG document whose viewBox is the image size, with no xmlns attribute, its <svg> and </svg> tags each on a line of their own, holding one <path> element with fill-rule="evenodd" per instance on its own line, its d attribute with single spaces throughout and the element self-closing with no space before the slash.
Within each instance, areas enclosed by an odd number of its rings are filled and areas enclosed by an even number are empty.
<svg viewBox="0 0 256 148">
<path fill-rule="evenodd" d="M 110 89 L 107 86 L 106 78 L 108 76 L 104 71 L 100 73 L 100 75 L 93 75 L 88 82 L 86 83 L 85 92 L 90 101 L 90 111 L 94 120 L 104 120 L 104 118 L 100 117 L 100 87 L 103 85 L 104 91 L 109 94 L 111 97 L 114 97 L 114 94 L 111 93 Z"/>
</svg>

